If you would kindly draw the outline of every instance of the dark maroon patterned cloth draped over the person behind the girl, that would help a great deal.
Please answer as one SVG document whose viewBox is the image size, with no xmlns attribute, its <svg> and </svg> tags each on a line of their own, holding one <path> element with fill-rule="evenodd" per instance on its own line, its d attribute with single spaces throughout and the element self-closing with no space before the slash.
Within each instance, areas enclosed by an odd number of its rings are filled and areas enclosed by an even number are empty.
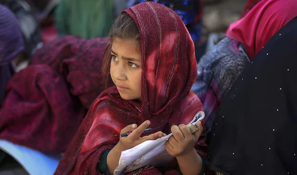
<svg viewBox="0 0 297 175">
<path fill-rule="evenodd" d="M 43 152 L 66 151 L 87 109 L 105 89 L 109 39 L 67 36 L 44 46 L 7 85 L 0 139 Z"/>
</svg>

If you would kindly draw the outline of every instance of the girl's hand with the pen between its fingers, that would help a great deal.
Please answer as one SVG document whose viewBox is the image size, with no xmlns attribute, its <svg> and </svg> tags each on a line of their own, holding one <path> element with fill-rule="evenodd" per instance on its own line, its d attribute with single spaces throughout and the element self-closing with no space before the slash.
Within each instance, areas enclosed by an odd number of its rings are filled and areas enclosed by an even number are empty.
<svg viewBox="0 0 297 175">
<path fill-rule="evenodd" d="M 166 135 L 163 132 L 158 131 L 148 136 L 140 137 L 145 131 L 145 129 L 148 128 L 149 124 L 150 124 L 150 121 L 147 120 L 143 122 L 139 127 L 137 127 L 137 124 L 130 124 L 126 126 L 124 129 L 121 130 L 121 134 L 126 132 L 132 132 L 132 133 L 129 134 L 127 137 L 120 137 L 120 141 L 118 142 L 116 147 L 121 149 L 121 151 L 125 151 L 147 140 L 155 140 Z"/>
</svg>

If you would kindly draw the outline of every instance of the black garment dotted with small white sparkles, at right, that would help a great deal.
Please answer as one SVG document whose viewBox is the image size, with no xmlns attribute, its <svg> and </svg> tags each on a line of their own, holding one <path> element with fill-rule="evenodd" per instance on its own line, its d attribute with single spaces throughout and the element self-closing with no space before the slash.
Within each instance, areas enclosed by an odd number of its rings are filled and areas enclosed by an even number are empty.
<svg viewBox="0 0 297 175">
<path fill-rule="evenodd" d="M 207 137 L 209 169 L 297 175 L 296 31 L 297 18 L 268 41 L 226 95 Z"/>
</svg>

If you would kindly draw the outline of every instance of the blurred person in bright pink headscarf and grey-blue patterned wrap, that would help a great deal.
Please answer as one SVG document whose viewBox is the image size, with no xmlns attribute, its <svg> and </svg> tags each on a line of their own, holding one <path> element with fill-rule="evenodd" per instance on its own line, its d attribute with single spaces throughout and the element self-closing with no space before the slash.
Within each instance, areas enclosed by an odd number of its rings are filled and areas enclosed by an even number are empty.
<svg viewBox="0 0 297 175">
<path fill-rule="evenodd" d="M 198 62 L 192 91 L 203 104 L 207 132 L 234 81 L 269 39 L 297 16 L 296 0 L 262 0 L 230 25 L 226 38 Z"/>
</svg>

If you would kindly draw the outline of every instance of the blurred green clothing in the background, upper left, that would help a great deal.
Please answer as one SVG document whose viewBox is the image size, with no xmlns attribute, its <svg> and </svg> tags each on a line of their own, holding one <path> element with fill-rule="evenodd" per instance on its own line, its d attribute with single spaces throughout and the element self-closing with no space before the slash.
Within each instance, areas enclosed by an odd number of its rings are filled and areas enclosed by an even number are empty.
<svg viewBox="0 0 297 175">
<path fill-rule="evenodd" d="M 58 34 L 106 37 L 113 20 L 112 8 L 112 0 L 60 0 L 55 11 Z"/>
</svg>

